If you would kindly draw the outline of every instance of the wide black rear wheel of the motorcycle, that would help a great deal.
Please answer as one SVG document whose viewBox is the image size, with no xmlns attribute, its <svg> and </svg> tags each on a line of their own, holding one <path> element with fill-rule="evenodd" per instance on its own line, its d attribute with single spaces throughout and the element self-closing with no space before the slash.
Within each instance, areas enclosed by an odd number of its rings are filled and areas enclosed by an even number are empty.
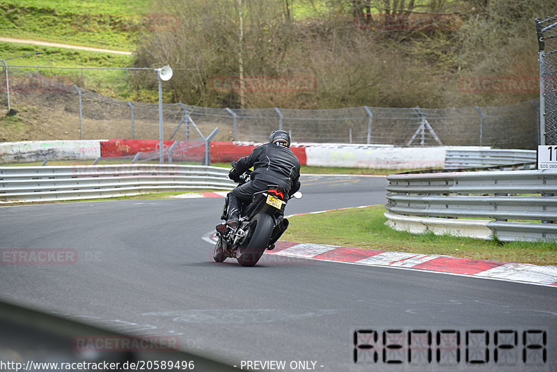
<svg viewBox="0 0 557 372">
<path fill-rule="evenodd" d="M 251 220 L 251 228 L 246 240 L 238 247 L 236 258 L 242 266 L 253 266 L 261 258 L 271 233 L 273 231 L 273 217 L 267 213 L 259 213 Z"/>
</svg>

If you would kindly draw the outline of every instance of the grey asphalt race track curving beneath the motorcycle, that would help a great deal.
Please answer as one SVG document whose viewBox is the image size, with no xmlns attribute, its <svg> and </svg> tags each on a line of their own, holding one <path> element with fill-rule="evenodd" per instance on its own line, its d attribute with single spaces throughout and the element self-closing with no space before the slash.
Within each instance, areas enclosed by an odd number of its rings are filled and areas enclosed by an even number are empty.
<svg viewBox="0 0 557 372">
<path fill-rule="evenodd" d="M 385 185 L 304 176 L 304 198 L 287 214 L 382 204 Z M 0 299 L 124 334 L 178 336 L 180 348 L 239 369 L 557 371 L 557 288 L 304 259 L 214 263 L 202 238 L 222 205 L 0 208 L 1 249 L 77 254 L 72 264 L 1 265 Z M 409 344 L 416 335 L 426 335 L 421 348 Z"/>
</svg>

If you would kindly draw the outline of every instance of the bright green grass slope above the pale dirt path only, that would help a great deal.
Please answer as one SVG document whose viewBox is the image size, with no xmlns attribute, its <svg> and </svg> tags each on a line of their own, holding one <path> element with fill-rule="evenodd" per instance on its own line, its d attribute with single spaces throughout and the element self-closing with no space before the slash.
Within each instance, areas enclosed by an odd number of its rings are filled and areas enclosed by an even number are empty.
<svg viewBox="0 0 557 372">
<path fill-rule="evenodd" d="M 133 51 L 152 0 L 3 0 L 0 35 Z"/>
</svg>

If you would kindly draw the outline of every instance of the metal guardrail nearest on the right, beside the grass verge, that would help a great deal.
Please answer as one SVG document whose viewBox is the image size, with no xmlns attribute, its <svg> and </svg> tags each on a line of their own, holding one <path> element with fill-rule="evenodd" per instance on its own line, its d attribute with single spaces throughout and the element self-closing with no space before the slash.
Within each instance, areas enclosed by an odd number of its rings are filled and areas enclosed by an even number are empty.
<svg viewBox="0 0 557 372">
<path fill-rule="evenodd" d="M 557 240 L 557 172 L 407 173 L 387 180 L 385 216 L 397 230 Z"/>
</svg>

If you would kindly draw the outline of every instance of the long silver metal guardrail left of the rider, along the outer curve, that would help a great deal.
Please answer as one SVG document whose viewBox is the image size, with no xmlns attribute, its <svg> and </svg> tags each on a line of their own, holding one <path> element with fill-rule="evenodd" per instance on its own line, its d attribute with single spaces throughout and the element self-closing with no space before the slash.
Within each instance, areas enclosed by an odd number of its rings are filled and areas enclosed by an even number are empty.
<svg viewBox="0 0 557 372">
<path fill-rule="evenodd" d="M 0 203 L 233 189 L 228 169 L 196 165 L 1 166 Z"/>
</svg>

